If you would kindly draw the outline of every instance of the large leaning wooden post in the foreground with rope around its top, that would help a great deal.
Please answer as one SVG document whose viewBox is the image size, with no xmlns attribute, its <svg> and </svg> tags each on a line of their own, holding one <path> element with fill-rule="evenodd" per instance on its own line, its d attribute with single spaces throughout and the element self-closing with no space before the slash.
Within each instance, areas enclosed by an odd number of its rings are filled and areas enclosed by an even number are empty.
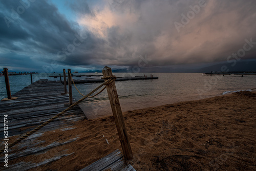
<svg viewBox="0 0 256 171">
<path fill-rule="evenodd" d="M 104 67 L 102 70 L 104 77 L 112 76 L 112 70 L 109 67 Z M 123 120 L 123 114 L 119 103 L 115 82 L 106 85 L 106 91 L 108 92 L 111 109 L 114 115 L 116 129 L 123 149 L 123 155 L 125 159 L 133 159 L 133 153 L 130 146 L 129 138 L 127 135 L 126 127 Z"/>
</svg>

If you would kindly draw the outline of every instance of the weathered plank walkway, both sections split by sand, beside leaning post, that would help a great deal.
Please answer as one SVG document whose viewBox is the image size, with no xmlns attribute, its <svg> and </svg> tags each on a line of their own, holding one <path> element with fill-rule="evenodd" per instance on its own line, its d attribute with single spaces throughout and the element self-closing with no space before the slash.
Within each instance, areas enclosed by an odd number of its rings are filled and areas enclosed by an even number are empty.
<svg viewBox="0 0 256 171">
<path fill-rule="evenodd" d="M 0 114 L 8 115 L 8 143 L 12 143 L 19 137 L 22 137 L 25 133 L 32 131 L 38 125 L 44 123 L 48 119 L 54 117 L 58 113 L 62 112 L 69 106 L 69 95 L 62 94 L 63 85 L 60 81 L 49 81 L 47 79 L 38 80 L 23 90 L 12 95 L 12 97 L 18 97 L 16 100 L 7 100 L 0 102 Z M 35 132 L 33 135 L 22 140 L 12 148 L 8 149 L 8 163 L 13 159 L 18 159 L 15 164 L 8 164 L 7 168 L 0 168 L 0 170 L 29 170 L 38 166 L 47 165 L 53 161 L 56 161 L 62 157 L 69 156 L 67 149 L 61 149 L 57 151 L 55 148 L 64 144 L 68 144 L 76 141 L 79 137 L 68 139 L 65 142 L 56 141 L 49 145 L 44 144 L 44 140 L 40 138 L 44 133 L 49 131 L 55 131 L 61 129 L 61 131 L 67 131 L 70 126 L 78 120 L 87 119 L 79 106 L 75 106 L 69 112 L 63 114 L 53 122 L 42 127 L 42 129 Z M 0 127 L 0 132 L 4 132 L 4 124 Z M 66 127 L 66 128 L 65 128 Z M 68 128 L 67 128 L 68 127 Z M 15 136 L 15 137 L 12 137 Z M 4 138 L 4 134 L 0 135 L 1 139 Z M 2 141 L 0 148 L 4 147 L 4 141 Z M 23 157 L 31 156 L 32 158 L 44 154 L 46 152 L 52 152 L 53 157 L 50 159 L 42 160 L 39 163 L 32 163 L 23 161 Z M 0 159 L 1 163 L 4 163 L 4 158 Z M 121 171 L 136 171 L 132 165 L 126 164 L 123 159 L 122 153 L 117 149 L 113 153 L 99 159 L 91 165 L 83 168 L 82 170 L 121 170 Z"/>
</svg>

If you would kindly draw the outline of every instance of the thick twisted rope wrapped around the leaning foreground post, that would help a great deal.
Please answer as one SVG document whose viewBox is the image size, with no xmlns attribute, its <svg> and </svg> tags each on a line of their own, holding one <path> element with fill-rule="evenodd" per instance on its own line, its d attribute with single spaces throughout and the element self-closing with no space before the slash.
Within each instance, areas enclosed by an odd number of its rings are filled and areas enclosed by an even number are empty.
<svg viewBox="0 0 256 171">
<path fill-rule="evenodd" d="M 77 104 L 79 104 L 81 101 L 83 101 L 84 99 L 88 98 L 90 95 L 92 95 L 93 93 L 95 93 L 97 90 L 99 90 L 101 87 L 105 86 L 106 84 L 112 83 L 116 80 L 116 77 L 114 75 L 112 76 L 108 76 L 108 77 L 102 77 L 102 79 L 106 80 L 105 82 L 103 82 L 100 86 L 98 86 L 96 89 L 94 89 L 93 91 L 91 91 L 89 94 L 87 94 L 86 96 L 82 97 L 80 100 L 78 100 L 77 102 L 73 103 L 71 106 L 69 106 L 69 108 L 65 109 L 64 111 L 60 112 L 59 114 L 57 114 L 56 116 L 52 117 L 51 119 L 49 119 L 48 121 L 42 123 L 41 125 L 37 126 L 34 130 L 28 132 L 27 134 L 25 134 L 24 136 L 18 138 L 16 141 L 14 141 L 11 144 L 8 144 L 8 149 L 11 148 L 12 146 L 16 145 L 17 143 L 19 143 L 20 141 L 24 140 L 25 138 L 27 138 L 28 136 L 32 135 L 33 133 L 35 133 L 36 131 L 40 130 L 42 127 L 44 127 L 45 125 L 47 125 L 48 123 L 54 121 L 56 118 L 58 118 L 59 116 L 61 116 L 62 114 L 65 114 L 66 112 L 70 111 L 72 108 L 74 108 L 74 106 L 76 106 Z M 100 93 L 103 91 L 104 89 L 102 89 L 100 91 Z M 97 93 L 96 95 L 98 95 L 99 93 Z M 94 96 L 96 96 L 94 95 Z M 0 154 L 3 153 L 5 151 L 5 148 L 0 150 Z"/>
</svg>

